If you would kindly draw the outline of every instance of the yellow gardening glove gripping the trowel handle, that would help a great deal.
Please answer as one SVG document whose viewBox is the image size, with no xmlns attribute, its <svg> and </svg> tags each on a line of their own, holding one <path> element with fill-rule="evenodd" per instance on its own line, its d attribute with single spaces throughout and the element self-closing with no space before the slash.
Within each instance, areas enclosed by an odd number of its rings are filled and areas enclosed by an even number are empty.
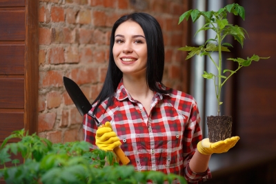
<svg viewBox="0 0 276 184">
<path fill-rule="evenodd" d="M 115 147 L 121 145 L 120 139 L 113 132 L 109 121 L 96 131 L 96 145 L 100 150 L 105 151 L 112 151 Z"/>
</svg>

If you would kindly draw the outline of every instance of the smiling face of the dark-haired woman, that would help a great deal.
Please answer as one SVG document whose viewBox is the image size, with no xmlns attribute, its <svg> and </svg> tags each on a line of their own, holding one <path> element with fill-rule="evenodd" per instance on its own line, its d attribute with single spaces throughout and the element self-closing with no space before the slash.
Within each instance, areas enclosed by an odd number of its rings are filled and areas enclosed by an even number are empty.
<svg viewBox="0 0 276 184">
<path fill-rule="evenodd" d="M 123 75 L 146 74 L 148 57 L 144 31 L 134 21 L 121 23 L 115 31 L 113 57 Z"/>
</svg>

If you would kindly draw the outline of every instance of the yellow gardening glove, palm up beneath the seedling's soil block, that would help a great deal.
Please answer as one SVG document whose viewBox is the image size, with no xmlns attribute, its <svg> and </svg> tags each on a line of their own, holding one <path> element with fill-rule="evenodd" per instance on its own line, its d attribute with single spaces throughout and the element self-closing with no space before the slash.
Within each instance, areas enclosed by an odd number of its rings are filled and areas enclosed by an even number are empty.
<svg viewBox="0 0 276 184">
<path fill-rule="evenodd" d="M 237 141 L 239 141 L 239 136 L 233 136 L 231 138 L 225 139 L 224 141 L 217 141 L 215 143 L 210 143 L 209 139 L 206 138 L 197 143 L 197 150 L 201 154 L 206 155 L 213 153 L 220 154 L 228 152 L 231 147 L 234 147 Z"/>
</svg>

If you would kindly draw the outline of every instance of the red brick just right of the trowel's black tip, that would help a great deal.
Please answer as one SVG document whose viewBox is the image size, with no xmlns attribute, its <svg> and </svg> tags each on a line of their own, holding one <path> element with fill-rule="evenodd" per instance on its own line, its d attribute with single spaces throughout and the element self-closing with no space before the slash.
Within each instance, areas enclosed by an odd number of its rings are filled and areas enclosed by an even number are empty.
<svg viewBox="0 0 276 184">
<path fill-rule="evenodd" d="M 81 85 L 84 83 L 96 83 L 98 81 L 97 68 L 75 68 L 71 72 L 72 80 Z"/>
</svg>

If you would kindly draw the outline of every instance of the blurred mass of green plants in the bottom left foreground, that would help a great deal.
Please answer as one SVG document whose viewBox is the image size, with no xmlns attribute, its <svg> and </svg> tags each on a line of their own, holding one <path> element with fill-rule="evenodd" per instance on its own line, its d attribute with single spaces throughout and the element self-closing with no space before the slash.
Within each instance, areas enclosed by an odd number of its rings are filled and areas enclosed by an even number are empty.
<svg viewBox="0 0 276 184">
<path fill-rule="evenodd" d="M 20 139 L 17 143 L 8 143 L 10 139 Z M 14 131 L 3 141 L 0 147 L 0 178 L 7 184 L 17 183 L 169 183 L 177 178 L 186 183 L 183 177 L 175 174 L 148 171 L 136 172 L 132 165 L 119 165 L 114 162 L 112 152 L 90 151 L 90 143 L 70 142 L 51 143 L 36 134 L 25 135 L 24 130 Z M 24 162 L 11 159 L 12 154 L 21 154 Z M 7 163 L 12 167 L 6 167 Z M 112 165 L 110 164 L 112 163 Z"/>
</svg>

